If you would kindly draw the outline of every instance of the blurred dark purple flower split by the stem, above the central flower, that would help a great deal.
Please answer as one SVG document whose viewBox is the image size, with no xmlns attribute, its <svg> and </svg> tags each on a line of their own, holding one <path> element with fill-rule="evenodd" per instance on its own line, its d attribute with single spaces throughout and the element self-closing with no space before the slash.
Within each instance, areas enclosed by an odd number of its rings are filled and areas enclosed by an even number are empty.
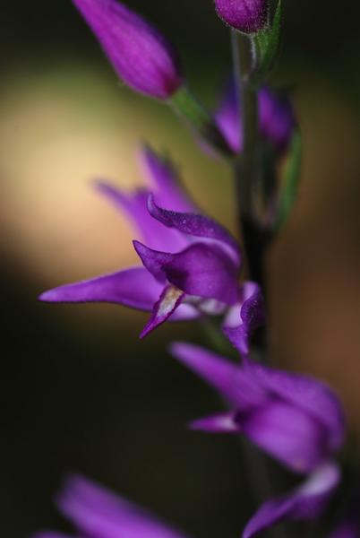
<svg viewBox="0 0 360 538">
<path fill-rule="evenodd" d="M 296 126 L 294 109 L 290 100 L 285 95 L 270 90 L 268 86 L 262 86 L 258 93 L 258 100 L 259 129 L 262 139 L 270 143 L 277 152 L 285 152 Z M 243 148 L 239 114 L 236 86 L 235 82 L 231 81 L 219 110 L 215 114 L 215 120 L 229 147 L 235 153 Z M 240 121 L 242 121 L 241 117 Z"/>
</svg>

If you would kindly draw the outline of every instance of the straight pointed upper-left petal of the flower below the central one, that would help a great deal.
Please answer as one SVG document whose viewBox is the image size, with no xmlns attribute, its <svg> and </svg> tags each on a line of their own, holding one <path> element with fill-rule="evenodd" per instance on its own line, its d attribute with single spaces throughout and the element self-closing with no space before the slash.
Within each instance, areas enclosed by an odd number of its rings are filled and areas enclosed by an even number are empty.
<svg viewBox="0 0 360 538">
<path fill-rule="evenodd" d="M 253 377 L 230 360 L 189 343 L 173 343 L 170 352 L 236 409 L 246 411 L 266 402 L 266 395 L 253 383 Z"/>
</svg>

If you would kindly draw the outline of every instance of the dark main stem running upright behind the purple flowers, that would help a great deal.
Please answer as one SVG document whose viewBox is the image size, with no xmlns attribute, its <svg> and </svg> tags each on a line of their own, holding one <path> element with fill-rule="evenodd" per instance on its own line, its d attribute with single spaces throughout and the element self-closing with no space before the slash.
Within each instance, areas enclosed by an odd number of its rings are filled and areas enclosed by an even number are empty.
<svg viewBox="0 0 360 538">
<path fill-rule="evenodd" d="M 260 144 L 258 140 L 258 93 L 250 83 L 252 56 L 251 43 L 244 35 L 231 31 L 231 43 L 236 77 L 240 123 L 240 140 L 242 150 L 236 159 L 236 189 L 238 195 L 239 225 L 244 237 L 244 249 L 249 265 L 250 276 L 263 288 L 264 256 L 270 241 L 261 224 L 256 221 L 253 196 L 254 189 L 261 181 Z M 258 343 L 261 352 L 266 353 L 266 334 L 261 335 Z M 272 496 L 269 466 L 264 456 L 255 453 L 252 447 L 245 445 L 244 457 L 252 473 L 252 487 L 255 495 L 262 502 Z M 275 538 L 284 538 L 285 531 L 271 531 Z"/>
</svg>

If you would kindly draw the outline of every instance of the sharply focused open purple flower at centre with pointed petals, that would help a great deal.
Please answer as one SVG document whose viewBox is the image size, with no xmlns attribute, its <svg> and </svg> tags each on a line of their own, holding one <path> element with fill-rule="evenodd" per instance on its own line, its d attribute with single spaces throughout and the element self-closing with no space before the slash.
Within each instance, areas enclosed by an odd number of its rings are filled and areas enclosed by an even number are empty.
<svg viewBox="0 0 360 538">
<path fill-rule="evenodd" d="M 152 312 L 141 336 L 171 320 L 226 314 L 227 330 L 239 332 L 234 343 L 248 350 L 261 315 L 248 308 L 256 284 L 239 283 L 241 253 L 230 233 L 198 213 L 177 181 L 176 169 L 145 148 L 142 162 L 152 186 L 124 194 L 107 183 L 98 189 L 133 221 L 141 239 L 133 242 L 143 267 L 135 266 L 95 279 L 68 284 L 40 296 L 47 302 L 111 302 Z M 160 207 L 167 206 L 167 209 Z M 250 286 L 250 287 L 249 287 Z M 256 302 L 256 301 L 255 301 Z M 246 304 L 245 304 L 246 303 Z M 246 306 L 247 305 L 247 306 Z"/>
</svg>

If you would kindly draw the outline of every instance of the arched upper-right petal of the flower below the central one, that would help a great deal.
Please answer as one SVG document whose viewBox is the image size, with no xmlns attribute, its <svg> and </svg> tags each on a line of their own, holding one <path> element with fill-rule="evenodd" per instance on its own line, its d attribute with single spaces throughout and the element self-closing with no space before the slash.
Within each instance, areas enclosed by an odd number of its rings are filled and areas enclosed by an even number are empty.
<svg viewBox="0 0 360 538">
<path fill-rule="evenodd" d="M 339 398 L 321 381 L 312 377 L 269 369 L 252 363 L 253 374 L 263 389 L 288 404 L 296 405 L 327 430 L 330 450 L 344 442 L 345 418 Z"/>
</svg>

